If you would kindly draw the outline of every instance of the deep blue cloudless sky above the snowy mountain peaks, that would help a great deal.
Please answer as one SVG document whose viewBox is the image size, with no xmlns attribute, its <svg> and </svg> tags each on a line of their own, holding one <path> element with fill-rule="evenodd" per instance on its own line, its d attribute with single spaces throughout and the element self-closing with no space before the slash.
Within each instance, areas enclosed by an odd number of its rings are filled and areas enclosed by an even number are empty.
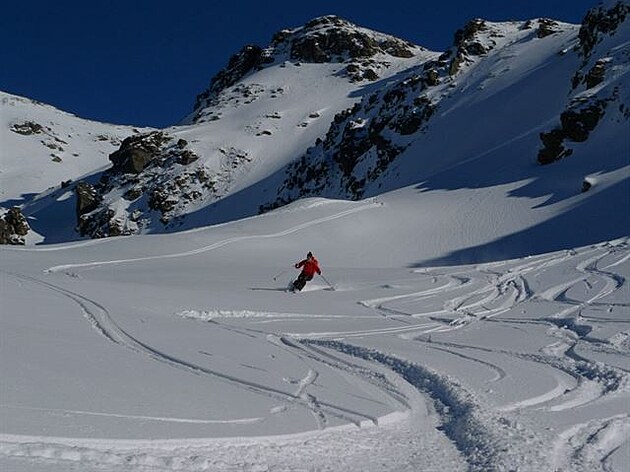
<svg viewBox="0 0 630 472">
<path fill-rule="evenodd" d="M 579 23 L 597 0 L 5 2 L 0 89 L 79 116 L 162 127 L 192 110 L 230 56 L 336 14 L 433 50 L 471 18 Z"/>
</svg>

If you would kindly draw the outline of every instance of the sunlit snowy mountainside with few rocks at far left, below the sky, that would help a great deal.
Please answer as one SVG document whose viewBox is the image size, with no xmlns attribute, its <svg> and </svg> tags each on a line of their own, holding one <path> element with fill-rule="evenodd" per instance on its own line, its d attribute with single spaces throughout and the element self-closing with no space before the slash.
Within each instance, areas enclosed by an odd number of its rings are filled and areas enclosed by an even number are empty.
<svg viewBox="0 0 630 472">
<path fill-rule="evenodd" d="M 107 156 L 120 141 L 145 130 L 84 120 L 0 92 L 0 204 L 23 204 L 61 182 L 108 167 Z"/>
</svg>

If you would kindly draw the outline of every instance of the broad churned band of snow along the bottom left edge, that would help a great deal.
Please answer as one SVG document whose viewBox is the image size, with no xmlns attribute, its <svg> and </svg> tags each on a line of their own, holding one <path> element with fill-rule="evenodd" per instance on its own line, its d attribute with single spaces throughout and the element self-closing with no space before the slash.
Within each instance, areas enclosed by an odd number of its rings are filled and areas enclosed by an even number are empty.
<svg viewBox="0 0 630 472">
<path fill-rule="evenodd" d="M 419 436 L 405 416 L 392 415 L 378 427 L 335 427 L 323 431 L 261 438 L 93 440 L 0 435 L 0 457 L 40 464 L 74 464 L 119 471 L 307 471 L 378 470 L 416 472 L 409 451 L 427 450 L 421 470 L 463 464 L 443 457 L 440 445 Z M 381 461 L 380 458 L 391 457 Z M 396 457 L 402 457 L 397 460 Z M 377 460 L 377 464 L 374 461 Z M 321 467 L 321 468 L 320 468 Z M 340 468 L 341 467 L 341 468 Z M 83 470 L 83 469 L 78 469 Z"/>
</svg>

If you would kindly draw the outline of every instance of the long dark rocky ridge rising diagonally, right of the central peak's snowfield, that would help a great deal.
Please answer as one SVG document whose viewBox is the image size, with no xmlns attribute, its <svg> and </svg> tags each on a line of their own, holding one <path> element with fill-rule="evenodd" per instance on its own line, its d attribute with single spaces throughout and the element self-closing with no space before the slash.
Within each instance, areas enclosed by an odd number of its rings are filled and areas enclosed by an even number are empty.
<svg viewBox="0 0 630 472">
<path fill-rule="evenodd" d="M 337 114 L 325 138 L 288 167 L 277 198 L 259 210 L 326 192 L 362 198 L 366 187 L 418 139 L 435 114 L 438 105 L 431 88 L 451 83 L 465 67 L 492 51 L 501 37 L 492 24 L 473 20 L 455 34 L 453 47 L 444 54 Z"/>
</svg>

